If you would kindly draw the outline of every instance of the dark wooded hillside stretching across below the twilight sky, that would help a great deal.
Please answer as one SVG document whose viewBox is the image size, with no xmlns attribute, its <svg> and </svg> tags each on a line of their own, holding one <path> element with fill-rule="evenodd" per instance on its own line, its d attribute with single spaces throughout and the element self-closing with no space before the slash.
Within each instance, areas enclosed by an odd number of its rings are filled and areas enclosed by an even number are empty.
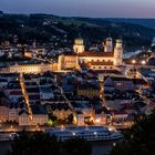
<svg viewBox="0 0 155 155">
<path fill-rule="evenodd" d="M 155 37 L 154 22 L 141 19 L 64 18 L 43 13 L 3 14 L 0 18 L 0 41 L 11 41 L 14 34 L 23 43 L 32 40 L 49 42 L 56 38 L 60 39 L 59 43 L 66 40 L 65 46 L 72 45 L 78 37 L 83 38 L 86 45 L 112 37 L 123 39 L 126 48 L 149 46 Z"/>
</svg>

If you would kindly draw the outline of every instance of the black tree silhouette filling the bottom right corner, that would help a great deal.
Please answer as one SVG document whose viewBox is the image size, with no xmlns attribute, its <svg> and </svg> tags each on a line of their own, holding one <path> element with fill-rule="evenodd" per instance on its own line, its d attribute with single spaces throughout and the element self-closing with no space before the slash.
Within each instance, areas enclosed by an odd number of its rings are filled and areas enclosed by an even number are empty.
<svg viewBox="0 0 155 155">
<path fill-rule="evenodd" d="M 125 140 L 113 148 L 112 155 L 155 155 L 155 112 L 140 117 L 125 133 Z"/>
</svg>

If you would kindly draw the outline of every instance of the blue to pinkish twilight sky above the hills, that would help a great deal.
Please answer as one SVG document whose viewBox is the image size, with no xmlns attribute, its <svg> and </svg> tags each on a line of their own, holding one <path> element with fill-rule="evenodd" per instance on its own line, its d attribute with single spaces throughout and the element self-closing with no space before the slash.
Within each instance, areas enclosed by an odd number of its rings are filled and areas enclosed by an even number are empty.
<svg viewBox="0 0 155 155">
<path fill-rule="evenodd" d="M 66 17 L 155 18 L 155 0 L 0 0 L 0 10 Z"/>
</svg>

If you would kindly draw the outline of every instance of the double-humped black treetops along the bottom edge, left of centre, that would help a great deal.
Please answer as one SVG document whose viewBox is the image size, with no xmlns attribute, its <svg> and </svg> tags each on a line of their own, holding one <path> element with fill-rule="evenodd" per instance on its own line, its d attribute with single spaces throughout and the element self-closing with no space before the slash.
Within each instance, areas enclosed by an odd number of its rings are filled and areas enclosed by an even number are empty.
<svg viewBox="0 0 155 155">
<path fill-rule="evenodd" d="M 12 143 L 9 155 L 91 155 L 91 144 L 82 138 L 60 143 L 44 133 L 23 132 Z"/>
</svg>

